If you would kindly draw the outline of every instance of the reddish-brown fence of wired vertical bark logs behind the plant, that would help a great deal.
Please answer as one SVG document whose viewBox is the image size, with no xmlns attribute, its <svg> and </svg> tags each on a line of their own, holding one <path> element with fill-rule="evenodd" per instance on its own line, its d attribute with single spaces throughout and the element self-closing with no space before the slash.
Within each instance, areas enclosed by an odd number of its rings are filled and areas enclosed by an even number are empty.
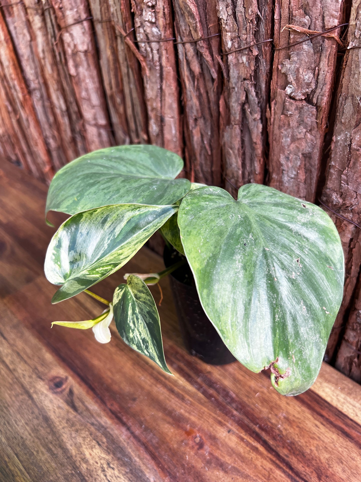
<svg viewBox="0 0 361 482">
<path fill-rule="evenodd" d="M 152 143 L 321 203 L 346 259 L 325 360 L 361 383 L 360 37 L 361 0 L 0 0 L 1 161 L 49 182 Z"/>
</svg>

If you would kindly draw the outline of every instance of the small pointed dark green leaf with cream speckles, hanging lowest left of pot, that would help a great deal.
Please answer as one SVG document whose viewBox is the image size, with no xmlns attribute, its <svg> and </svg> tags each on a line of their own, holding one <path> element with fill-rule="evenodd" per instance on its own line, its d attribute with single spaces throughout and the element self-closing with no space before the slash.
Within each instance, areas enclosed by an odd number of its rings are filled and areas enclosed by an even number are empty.
<svg viewBox="0 0 361 482">
<path fill-rule="evenodd" d="M 170 373 L 164 358 L 158 310 L 147 285 L 130 274 L 113 296 L 114 320 L 119 335 L 142 355 Z"/>
</svg>

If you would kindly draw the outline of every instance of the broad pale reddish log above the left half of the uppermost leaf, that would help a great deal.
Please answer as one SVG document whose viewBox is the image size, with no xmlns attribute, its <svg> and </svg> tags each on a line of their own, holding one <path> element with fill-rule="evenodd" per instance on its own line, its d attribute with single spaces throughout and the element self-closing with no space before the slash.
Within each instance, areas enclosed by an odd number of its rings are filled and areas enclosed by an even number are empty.
<svg viewBox="0 0 361 482">
<path fill-rule="evenodd" d="M 86 0 L 52 0 L 88 151 L 114 144 Z"/>
</svg>

